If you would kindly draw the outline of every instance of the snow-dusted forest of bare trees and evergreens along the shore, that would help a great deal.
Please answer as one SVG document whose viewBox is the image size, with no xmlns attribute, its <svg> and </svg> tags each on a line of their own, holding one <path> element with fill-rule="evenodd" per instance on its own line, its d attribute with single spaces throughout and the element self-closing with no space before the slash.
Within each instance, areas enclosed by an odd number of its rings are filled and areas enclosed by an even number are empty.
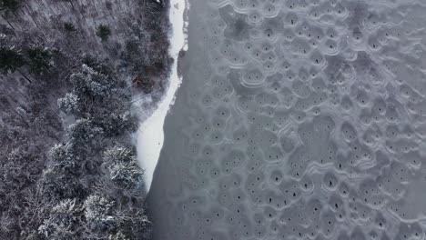
<svg viewBox="0 0 426 240">
<path fill-rule="evenodd" d="M 0 239 L 147 239 L 137 99 L 167 87 L 168 3 L 0 0 Z"/>
</svg>

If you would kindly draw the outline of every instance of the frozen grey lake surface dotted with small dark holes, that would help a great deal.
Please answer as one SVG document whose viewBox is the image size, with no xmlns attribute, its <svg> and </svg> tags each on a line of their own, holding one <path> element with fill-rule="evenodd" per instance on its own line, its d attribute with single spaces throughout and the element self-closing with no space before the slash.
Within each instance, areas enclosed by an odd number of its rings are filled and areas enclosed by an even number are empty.
<svg viewBox="0 0 426 240">
<path fill-rule="evenodd" d="M 424 239 L 425 2 L 189 4 L 154 239 Z"/>
</svg>

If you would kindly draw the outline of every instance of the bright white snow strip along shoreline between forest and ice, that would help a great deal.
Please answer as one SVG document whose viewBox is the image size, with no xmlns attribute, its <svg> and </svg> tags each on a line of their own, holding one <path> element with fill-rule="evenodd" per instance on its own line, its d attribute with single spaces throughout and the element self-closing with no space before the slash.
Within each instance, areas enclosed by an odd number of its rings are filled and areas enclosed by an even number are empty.
<svg viewBox="0 0 426 240">
<path fill-rule="evenodd" d="M 188 48 L 185 34 L 187 25 L 184 22 L 186 2 L 185 0 L 171 0 L 170 6 L 169 19 L 172 24 L 172 35 L 170 37 L 171 47 L 169 53 L 175 60 L 170 75 L 170 85 L 157 110 L 139 126 L 137 131 L 137 158 L 139 164 L 145 170 L 147 191 L 151 186 L 154 170 L 163 146 L 164 120 L 170 105 L 174 103 L 175 93 L 181 83 L 181 79 L 177 75 L 177 58 L 180 50 L 186 51 Z"/>
</svg>

